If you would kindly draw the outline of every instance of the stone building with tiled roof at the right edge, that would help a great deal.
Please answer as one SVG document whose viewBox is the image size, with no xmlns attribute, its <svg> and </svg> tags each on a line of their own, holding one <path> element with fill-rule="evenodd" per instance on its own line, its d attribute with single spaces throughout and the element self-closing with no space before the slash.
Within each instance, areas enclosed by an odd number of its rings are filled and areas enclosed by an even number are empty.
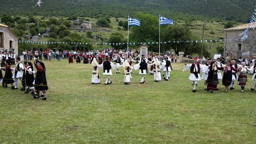
<svg viewBox="0 0 256 144">
<path fill-rule="evenodd" d="M 256 22 L 254 22 L 256 24 Z M 227 28 L 225 30 L 225 48 L 224 48 L 224 58 L 228 55 L 231 58 L 236 58 L 238 60 L 239 56 L 242 56 L 244 52 L 250 52 L 250 57 L 256 56 L 256 30 L 252 28 L 248 29 L 248 38 L 245 41 L 241 41 L 239 36 L 244 30 L 247 29 L 249 24 L 244 24 L 241 26 L 236 26 L 233 28 Z M 242 56 L 246 58 L 246 55 Z"/>
</svg>

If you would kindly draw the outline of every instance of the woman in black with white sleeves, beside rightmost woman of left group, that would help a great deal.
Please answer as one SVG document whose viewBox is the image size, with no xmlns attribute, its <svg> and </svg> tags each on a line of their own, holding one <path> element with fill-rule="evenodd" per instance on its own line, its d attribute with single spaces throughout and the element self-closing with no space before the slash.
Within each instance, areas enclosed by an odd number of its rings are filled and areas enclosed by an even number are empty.
<svg viewBox="0 0 256 144">
<path fill-rule="evenodd" d="M 31 90 L 31 94 L 34 95 L 35 91 L 34 91 L 34 69 L 33 69 L 33 65 L 31 62 L 27 62 L 26 64 L 26 68 L 25 68 L 25 85 L 26 85 L 26 91 L 24 92 L 25 94 L 28 93 L 29 90 Z"/>
</svg>

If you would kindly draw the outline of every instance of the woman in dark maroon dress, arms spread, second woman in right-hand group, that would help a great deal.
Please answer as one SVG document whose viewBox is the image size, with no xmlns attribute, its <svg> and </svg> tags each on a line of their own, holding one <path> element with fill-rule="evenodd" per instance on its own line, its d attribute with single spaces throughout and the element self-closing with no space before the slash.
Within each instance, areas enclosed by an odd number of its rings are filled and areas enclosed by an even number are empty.
<svg viewBox="0 0 256 144">
<path fill-rule="evenodd" d="M 238 69 L 230 66 L 231 62 L 228 61 L 227 65 L 224 67 L 217 67 L 218 70 L 224 70 L 223 72 L 223 78 L 222 78 L 222 85 L 224 85 L 226 87 L 225 92 L 228 92 L 228 87 L 230 86 L 231 82 L 232 82 L 232 70 L 234 70 L 235 72 L 238 71 Z"/>
</svg>

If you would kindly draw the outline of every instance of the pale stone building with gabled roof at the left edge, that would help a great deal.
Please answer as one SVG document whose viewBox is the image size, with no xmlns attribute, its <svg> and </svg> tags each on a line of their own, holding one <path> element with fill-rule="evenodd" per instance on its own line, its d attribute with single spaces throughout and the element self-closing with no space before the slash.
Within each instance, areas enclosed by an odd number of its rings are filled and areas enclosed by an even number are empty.
<svg viewBox="0 0 256 144">
<path fill-rule="evenodd" d="M 10 51 L 14 49 L 14 53 L 18 54 L 18 37 L 4 24 L 0 24 L 0 51 Z"/>
</svg>

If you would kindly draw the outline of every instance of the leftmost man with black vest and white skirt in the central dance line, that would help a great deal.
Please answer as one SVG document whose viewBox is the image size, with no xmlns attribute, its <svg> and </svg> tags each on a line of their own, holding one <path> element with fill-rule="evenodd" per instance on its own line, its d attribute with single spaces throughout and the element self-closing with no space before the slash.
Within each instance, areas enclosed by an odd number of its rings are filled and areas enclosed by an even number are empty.
<svg viewBox="0 0 256 144">
<path fill-rule="evenodd" d="M 103 69 L 103 75 L 107 75 L 105 85 L 112 84 L 110 81 L 110 76 L 112 75 L 111 68 L 114 70 L 115 65 L 109 61 L 108 57 L 106 57 L 106 61 L 100 65 L 100 68 Z"/>
</svg>

